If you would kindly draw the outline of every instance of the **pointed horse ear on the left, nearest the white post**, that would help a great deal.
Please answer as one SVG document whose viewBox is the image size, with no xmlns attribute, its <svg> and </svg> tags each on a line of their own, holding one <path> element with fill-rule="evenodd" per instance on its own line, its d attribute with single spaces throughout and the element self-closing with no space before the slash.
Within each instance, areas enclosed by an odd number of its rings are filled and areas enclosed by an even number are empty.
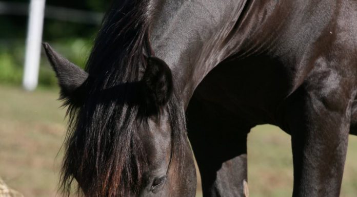
<svg viewBox="0 0 357 197">
<path fill-rule="evenodd" d="M 80 104 L 84 96 L 84 82 L 88 73 L 55 52 L 48 43 L 43 43 L 46 55 L 58 78 L 61 87 L 61 99 L 66 99 L 66 104 Z"/>
</svg>

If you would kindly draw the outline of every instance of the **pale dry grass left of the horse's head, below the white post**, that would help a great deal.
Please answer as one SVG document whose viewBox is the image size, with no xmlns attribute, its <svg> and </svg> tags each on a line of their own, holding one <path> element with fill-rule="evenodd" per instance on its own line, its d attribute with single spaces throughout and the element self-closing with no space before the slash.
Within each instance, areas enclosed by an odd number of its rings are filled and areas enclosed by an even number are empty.
<svg viewBox="0 0 357 197">
<path fill-rule="evenodd" d="M 0 176 L 25 196 L 55 196 L 64 111 L 55 92 L 0 86 Z"/>
</svg>

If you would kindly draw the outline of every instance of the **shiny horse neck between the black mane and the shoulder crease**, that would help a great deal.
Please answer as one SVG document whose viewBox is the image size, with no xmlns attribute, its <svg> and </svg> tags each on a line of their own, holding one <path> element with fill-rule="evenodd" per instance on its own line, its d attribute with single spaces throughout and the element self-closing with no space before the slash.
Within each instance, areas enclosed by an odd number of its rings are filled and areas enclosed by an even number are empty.
<svg viewBox="0 0 357 197">
<path fill-rule="evenodd" d="M 155 55 L 169 65 L 187 106 L 194 89 L 230 55 L 229 36 L 247 0 L 164 1 L 152 19 Z"/>
</svg>

